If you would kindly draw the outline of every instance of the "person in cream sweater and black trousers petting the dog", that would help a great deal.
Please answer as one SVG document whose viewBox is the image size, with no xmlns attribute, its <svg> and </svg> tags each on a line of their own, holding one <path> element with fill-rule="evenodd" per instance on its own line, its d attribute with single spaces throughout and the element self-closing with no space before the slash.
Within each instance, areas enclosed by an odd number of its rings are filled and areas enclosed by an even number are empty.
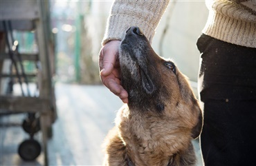
<svg viewBox="0 0 256 166">
<path fill-rule="evenodd" d="M 206 166 L 255 165 L 256 1 L 205 0 L 208 21 L 196 45 L 201 52 L 200 137 Z M 123 103 L 118 48 L 131 26 L 151 42 L 168 1 L 114 1 L 99 55 L 102 83 Z"/>
</svg>

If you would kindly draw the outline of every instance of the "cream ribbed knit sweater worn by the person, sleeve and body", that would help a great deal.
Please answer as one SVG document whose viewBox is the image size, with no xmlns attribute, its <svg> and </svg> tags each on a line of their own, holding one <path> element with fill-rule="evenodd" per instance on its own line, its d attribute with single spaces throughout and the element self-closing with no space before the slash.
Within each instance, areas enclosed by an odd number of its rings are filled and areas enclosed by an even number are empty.
<svg viewBox="0 0 256 166">
<path fill-rule="evenodd" d="M 111 8 L 102 45 L 121 40 L 131 26 L 138 26 L 152 42 L 167 0 L 116 0 Z M 209 9 L 203 33 L 236 45 L 256 48 L 256 0 L 205 0 Z"/>
</svg>

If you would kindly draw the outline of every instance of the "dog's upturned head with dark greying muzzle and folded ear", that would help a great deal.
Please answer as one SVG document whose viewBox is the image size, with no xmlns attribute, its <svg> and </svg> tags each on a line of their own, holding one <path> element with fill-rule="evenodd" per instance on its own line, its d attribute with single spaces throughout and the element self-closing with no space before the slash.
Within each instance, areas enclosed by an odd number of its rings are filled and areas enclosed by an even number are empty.
<svg viewBox="0 0 256 166">
<path fill-rule="evenodd" d="M 138 27 L 127 30 L 119 54 L 121 81 L 129 94 L 130 110 L 179 119 L 181 124 L 191 126 L 193 138 L 199 136 L 201 110 L 176 65 L 158 56 Z"/>
</svg>

